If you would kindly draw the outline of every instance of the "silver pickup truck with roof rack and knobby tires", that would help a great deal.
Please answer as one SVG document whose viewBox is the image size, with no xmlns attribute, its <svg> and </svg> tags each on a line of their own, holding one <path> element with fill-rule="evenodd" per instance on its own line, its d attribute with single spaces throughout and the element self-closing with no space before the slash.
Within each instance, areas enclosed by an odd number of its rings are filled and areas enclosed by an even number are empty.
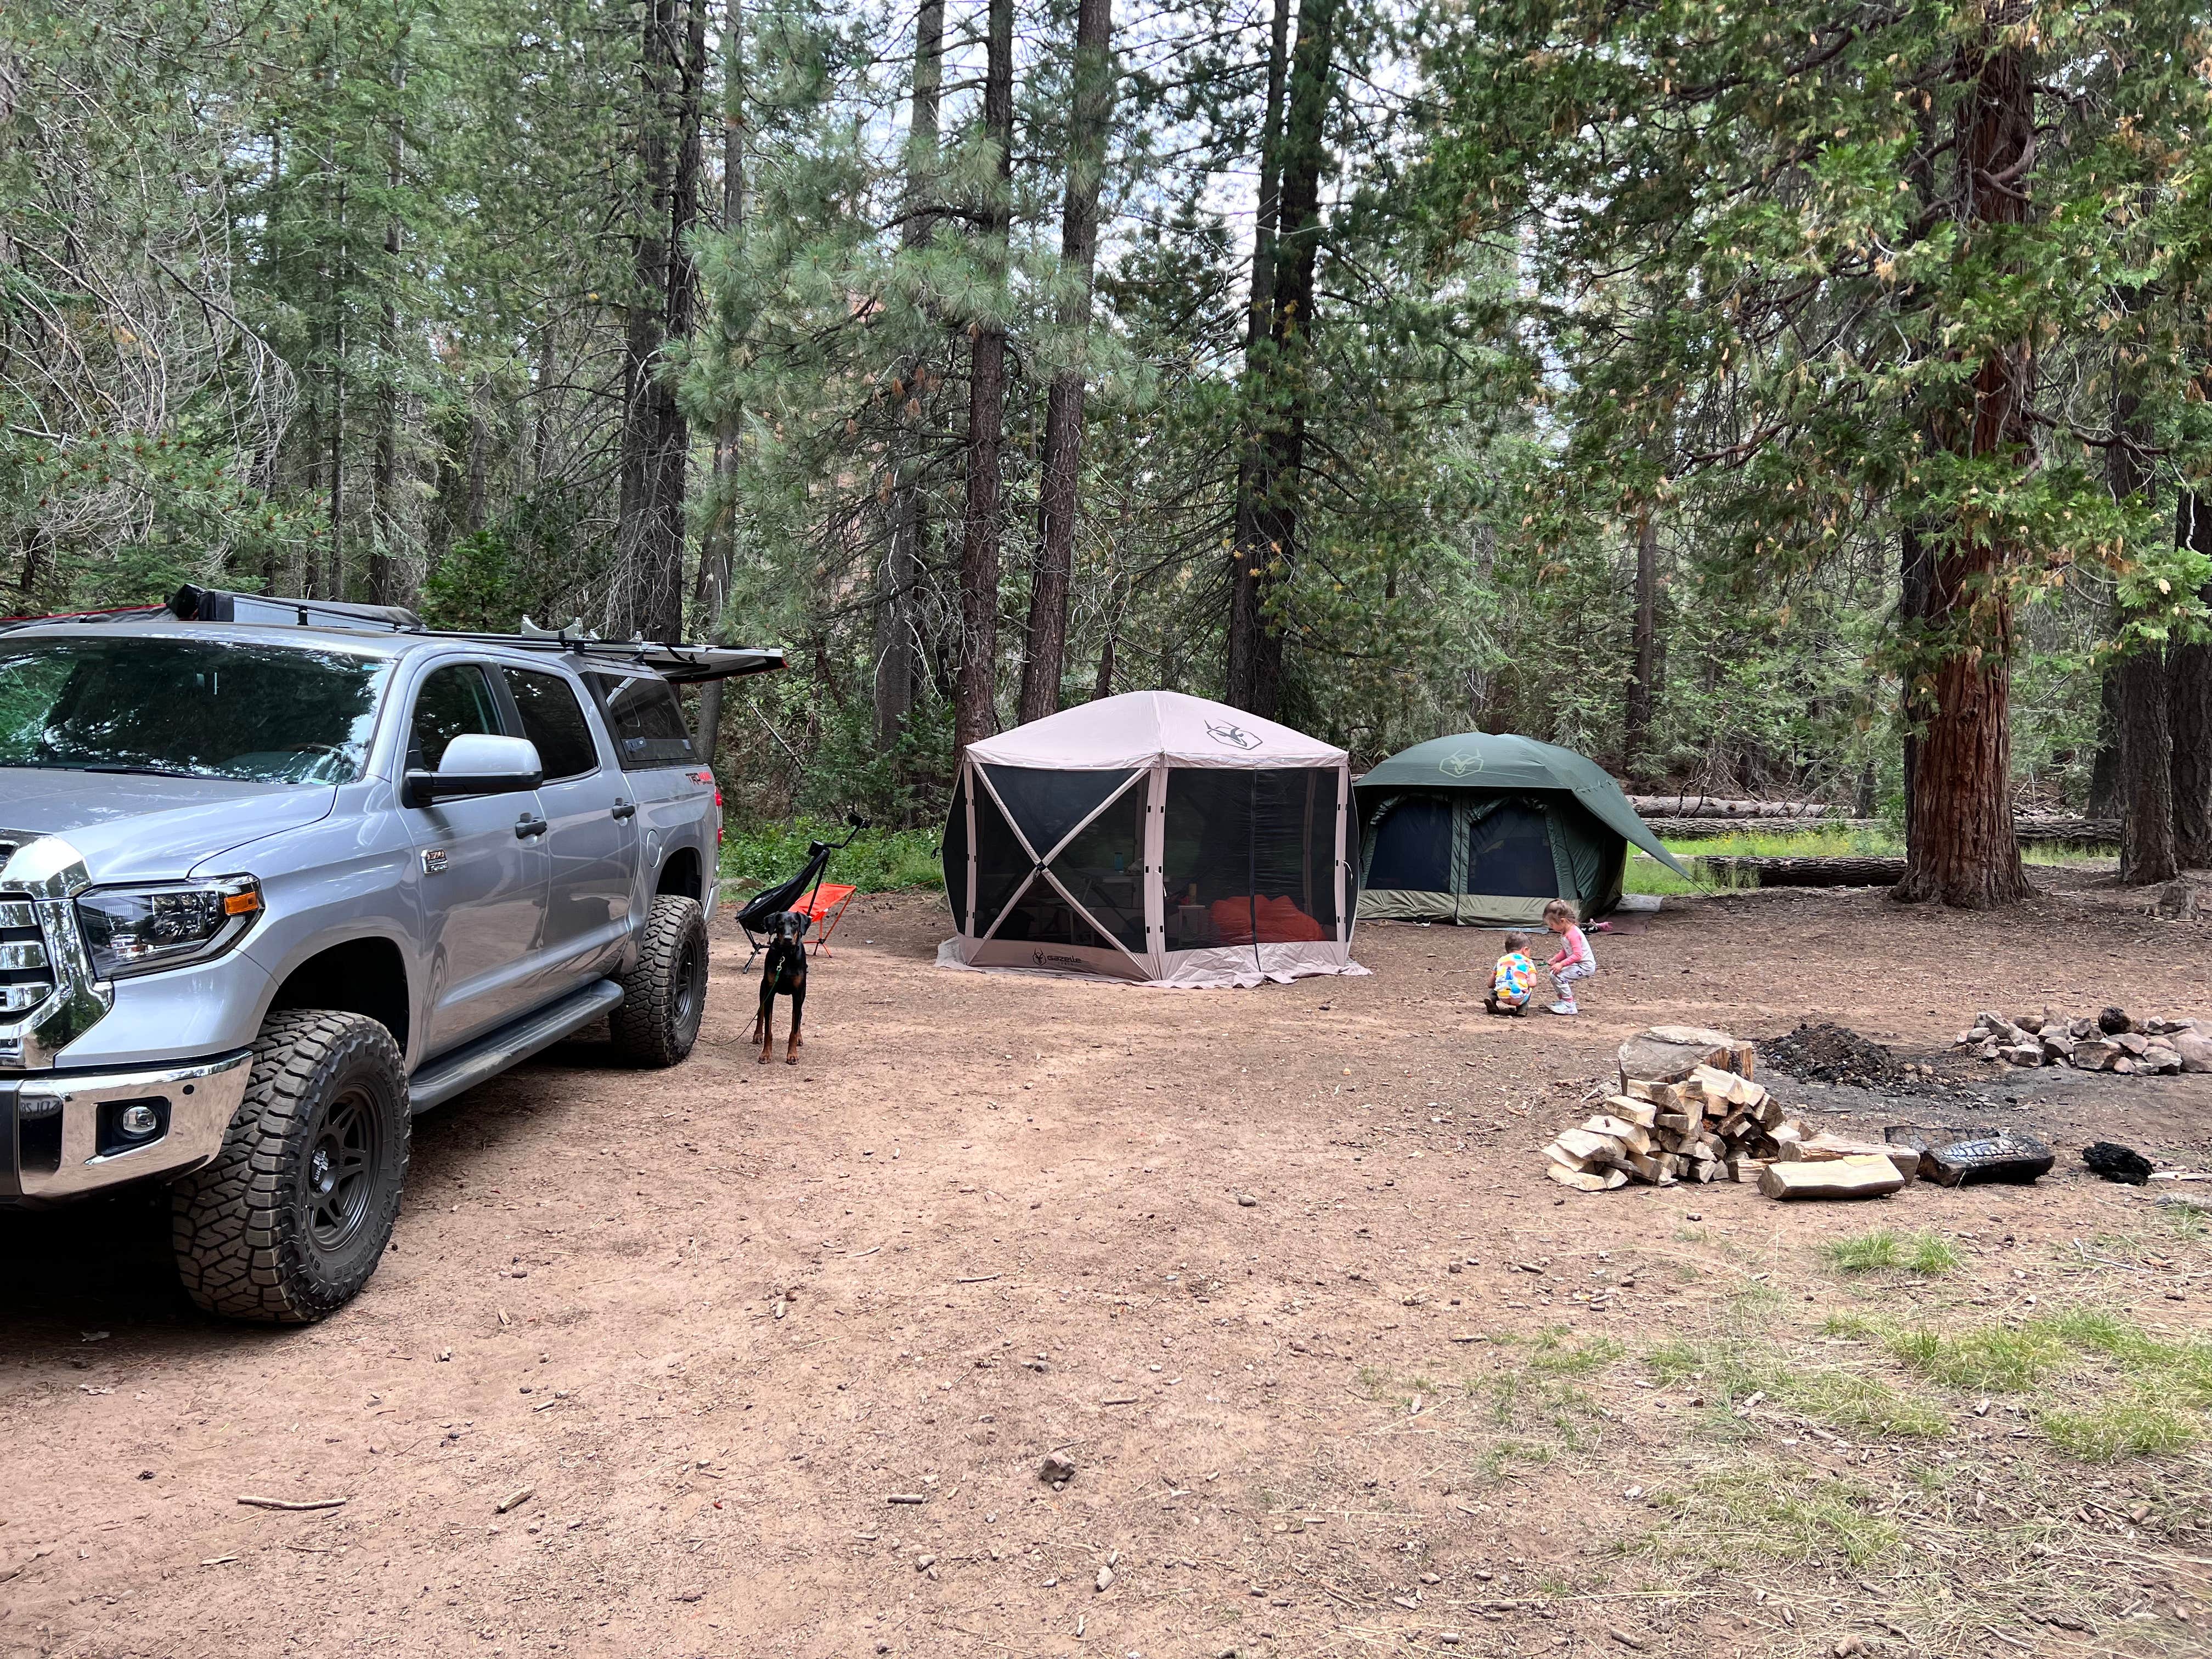
<svg viewBox="0 0 2212 1659">
<path fill-rule="evenodd" d="M 672 684 L 781 666 L 201 588 L 0 626 L 0 1206 L 161 1181 L 201 1307 L 343 1305 L 414 1113 L 599 1018 L 690 1053 L 721 796 Z"/>
</svg>

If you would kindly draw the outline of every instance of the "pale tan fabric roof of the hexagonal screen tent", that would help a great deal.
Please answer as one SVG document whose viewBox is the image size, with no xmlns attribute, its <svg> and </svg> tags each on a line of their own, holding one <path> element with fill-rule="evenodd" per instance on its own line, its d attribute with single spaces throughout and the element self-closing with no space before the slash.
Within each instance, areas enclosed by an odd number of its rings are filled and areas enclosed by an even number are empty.
<svg viewBox="0 0 2212 1659">
<path fill-rule="evenodd" d="M 969 743 L 969 754 L 984 765 L 1035 765 L 1057 772 L 1126 772 L 1159 761 L 1261 772 L 1345 761 L 1343 750 L 1305 732 L 1183 692 L 1121 692 L 1077 703 L 1042 721 Z"/>
</svg>

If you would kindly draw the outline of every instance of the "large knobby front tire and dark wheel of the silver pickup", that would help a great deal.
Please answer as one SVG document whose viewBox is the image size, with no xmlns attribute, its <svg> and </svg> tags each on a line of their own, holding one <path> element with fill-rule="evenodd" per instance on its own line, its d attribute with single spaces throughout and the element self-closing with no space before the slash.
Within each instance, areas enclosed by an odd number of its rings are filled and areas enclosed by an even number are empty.
<svg viewBox="0 0 2212 1659">
<path fill-rule="evenodd" d="M 223 1150 L 170 1197 L 186 1294 L 274 1325 L 352 1301 L 400 1212 L 409 1126 L 405 1062 L 383 1024 L 272 1013 Z"/>
</svg>

